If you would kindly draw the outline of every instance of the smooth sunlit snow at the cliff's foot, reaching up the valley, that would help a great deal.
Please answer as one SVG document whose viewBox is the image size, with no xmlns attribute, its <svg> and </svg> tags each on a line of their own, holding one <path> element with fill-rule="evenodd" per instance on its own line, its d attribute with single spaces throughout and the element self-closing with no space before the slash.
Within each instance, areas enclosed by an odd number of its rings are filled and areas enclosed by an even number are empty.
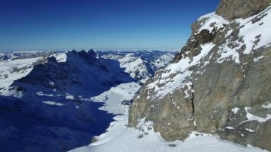
<svg viewBox="0 0 271 152">
<path fill-rule="evenodd" d="M 167 142 L 161 138 L 160 133 L 153 131 L 153 123 L 140 120 L 137 128 L 128 128 L 128 106 L 121 105 L 123 100 L 129 100 L 140 88 L 137 83 L 123 83 L 92 98 L 105 102 L 101 109 L 109 113 L 120 114 L 114 118 L 106 133 L 98 136 L 98 141 L 89 146 L 83 146 L 71 151 L 263 151 L 252 146 L 244 147 L 230 141 L 220 140 L 217 136 L 206 133 L 191 133 L 190 137 L 182 141 Z"/>
</svg>

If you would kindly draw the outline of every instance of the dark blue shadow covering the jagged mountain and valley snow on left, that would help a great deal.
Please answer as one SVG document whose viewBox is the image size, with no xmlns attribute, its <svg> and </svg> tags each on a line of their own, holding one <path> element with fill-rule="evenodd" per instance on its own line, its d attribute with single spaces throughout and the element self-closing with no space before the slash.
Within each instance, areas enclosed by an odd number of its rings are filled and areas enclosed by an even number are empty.
<svg viewBox="0 0 271 152">
<path fill-rule="evenodd" d="M 22 98 L 0 96 L 1 151 L 68 151 L 88 145 L 113 121 L 113 114 L 98 109 L 104 103 L 89 98 L 136 80 L 118 61 L 89 52 L 67 56 L 65 63 L 51 57 L 14 81 L 10 89 Z"/>
</svg>

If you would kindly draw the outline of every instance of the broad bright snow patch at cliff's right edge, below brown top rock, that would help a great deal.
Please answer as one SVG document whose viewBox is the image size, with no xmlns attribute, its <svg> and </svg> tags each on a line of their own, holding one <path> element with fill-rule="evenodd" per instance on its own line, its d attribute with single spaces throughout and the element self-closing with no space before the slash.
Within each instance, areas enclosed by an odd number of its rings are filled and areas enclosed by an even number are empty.
<svg viewBox="0 0 271 152">
<path fill-rule="evenodd" d="M 213 18 L 213 16 L 210 17 Z M 260 21 L 255 22 L 256 19 L 260 19 Z M 238 37 L 242 39 L 242 41 L 227 41 L 227 43 L 220 46 L 219 54 L 221 54 L 221 57 L 218 59 L 218 63 L 231 59 L 237 64 L 240 64 L 240 53 L 238 53 L 238 50 L 244 45 L 245 51 L 243 51 L 242 54 L 251 54 L 253 50 L 270 46 L 271 6 L 255 16 L 251 16 L 247 19 L 236 19 L 232 22 L 239 24 L 239 27 L 237 27 L 240 29 Z M 232 31 L 228 32 L 226 38 L 230 38 L 231 32 Z M 230 49 L 228 46 L 230 43 L 234 43 L 237 47 Z M 255 58 L 254 61 L 259 61 L 263 57 L 264 56 Z"/>
</svg>

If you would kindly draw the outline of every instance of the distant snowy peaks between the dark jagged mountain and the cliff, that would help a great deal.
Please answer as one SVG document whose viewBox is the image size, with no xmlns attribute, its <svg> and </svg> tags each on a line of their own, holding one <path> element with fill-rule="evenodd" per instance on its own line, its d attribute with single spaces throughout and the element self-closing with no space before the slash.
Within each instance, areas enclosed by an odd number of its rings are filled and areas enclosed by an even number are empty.
<svg viewBox="0 0 271 152">
<path fill-rule="evenodd" d="M 131 77 L 144 83 L 154 71 L 173 60 L 176 51 L 98 51 L 102 58 L 118 60 Z"/>
</svg>

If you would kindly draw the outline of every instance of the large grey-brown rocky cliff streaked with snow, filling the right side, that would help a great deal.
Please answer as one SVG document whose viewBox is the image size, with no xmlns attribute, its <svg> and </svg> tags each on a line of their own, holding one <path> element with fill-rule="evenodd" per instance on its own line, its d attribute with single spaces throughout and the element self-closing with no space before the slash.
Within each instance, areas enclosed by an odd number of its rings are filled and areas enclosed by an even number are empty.
<svg viewBox="0 0 271 152">
<path fill-rule="evenodd" d="M 269 3 L 223 0 L 198 19 L 173 64 L 135 96 L 129 126 L 145 117 L 167 141 L 201 131 L 270 151 Z"/>
</svg>

